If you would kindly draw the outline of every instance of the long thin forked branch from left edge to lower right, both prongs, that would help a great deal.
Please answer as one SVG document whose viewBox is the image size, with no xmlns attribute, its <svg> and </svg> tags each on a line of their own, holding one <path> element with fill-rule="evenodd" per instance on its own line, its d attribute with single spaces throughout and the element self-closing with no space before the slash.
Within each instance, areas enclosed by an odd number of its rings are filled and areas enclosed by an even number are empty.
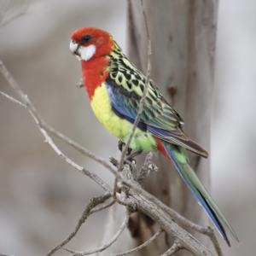
<svg viewBox="0 0 256 256">
<path fill-rule="evenodd" d="M 112 189 L 110 189 L 108 187 L 108 185 L 106 183 L 104 183 L 102 181 L 102 179 L 100 177 L 97 177 L 96 174 L 91 173 L 89 171 L 87 171 L 86 169 L 84 169 L 82 166 L 79 166 L 77 164 L 75 164 L 72 160 L 68 159 L 66 155 L 62 154 L 60 149 L 57 148 L 55 146 L 55 144 L 52 142 L 51 138 L 48 136 L 47 132 L 45 130 L 48 129 L 48 131 L 52 132 L 53 134 L 55 134 L 57 137 L 60 137 L 63 141 L 65 141 L 66 143 L 70 144 L 71 146 L 73 146 L 73 148 L 78 149 L 81 153 L 89 156 L 91 159 L 96 160 L 97 162 L 101 163 L 103 166 L 107 167 L 108 170 L 110 172 L 113 173 L 113 175 L 115 175 L 115 177 L 118 177 L 119 180 L 123 183 L 125 183 L 126 185 L 128 185 L 131 189 L 134 189 L 134 191 L 136 191 L 137 193 L 139 193 L 140 195 L 145 196 L 145 198 L 147 198 L 149 201 L 154 202 L 154 204 L 157 207 L 160 207 L 160 209 L 162 209 L 163 211 L 167 212 L 172 218 L 180 221 L 182 224 L 189 226 L 190 228 L 192 228 L 193 230 L 196 230 L 202 234 L 205 234 L 207 236 L 212 236 L 212 230 L 209 230 L 208 228 L 203 228 L 197 224 L 192 223 L 191 221 L 189 221 L 186 218 L 183 218 L 183 216 L 179 215 L 177 212 L 175 212 L 174 210 L 172 210 L 171 208 L 167 207 L 164 203 L 162 203 L 161 201 L 159 201 L 157 198 L 154 197 L 154 195 L 150 195 L 147 191 L 145 191 L 144 189 L 142 189 L 141 187 L 137 186 L 137 184 L 135 183 L 131 183 L 130 181 L 128 181 L 126 178 L 124 178 L 119 172 L 116 172 L 116 170 L 113 169 L 112 166 L 110 166 L 108 164 L 108 162 L 106 160 L 102 160 L 102 158 L 97 157 L 95 154 L 91 154 L 90 151 L 88 151 L 86 148 L 83 148 L 82 146 L 80 146 L 78 143 L 74 143 L 72 140 L 70 140 L 69 138 L 63 136 L 60 132 L 55 131 L 55 129 L 49 127 L 49 125 L 46 125 L 44 123 L 44 121 L 42 121 L 42 119 L 39 118 L 38 112 L 36 110 L 36 108 L 33 107 L 32 103 L 29 101 L 28 97 L 24 94 L 24 92 L 20 89 L 20 86 L 15 82 L 15 79 L 12 78 L 12 76 L 9 74 L 9 72 L 7 71 L 6 67 L 3 66 L 3 62 L 0 61 L 0 71 L 3 73 L 3 76 L 7 79 L 7 81 L 9 82 L 9 85 L 16 91 L 18 92 L 18 95 L 20 96 L 20 98 L 22 99 L 23 102 L 26 103 L 26 106 L 24 104 L 22 104 L 21 102 L 16 101 L 14 98 L 5 95 L 4 93 L 2 93 L 3 96 L 7 96 L 11 101 L 18 103 L 20 106 L 26 108 L 31 114 L 32 117 L 35 119 L 39 130 L 43 133 L 46 141 L 50 144 L 50 146 L 55 150 L 55 152 L 63 159 L 66 160 L 68 164 L 70 164 L 71 166 L 73 166 L 75 169 L 79 170 L 79 172 L 84 173 L 85 175 L 91 177 L 96 183 L 98 183 L 103 189 L 105 189 L 108 192 L 112 192 Z M 214 234 L 213 234 L 214 235 Z M 215 246 L 218 247 L 218 246 Z M 221 255 L 221 254 L 220 254 Z"/>
</svg>

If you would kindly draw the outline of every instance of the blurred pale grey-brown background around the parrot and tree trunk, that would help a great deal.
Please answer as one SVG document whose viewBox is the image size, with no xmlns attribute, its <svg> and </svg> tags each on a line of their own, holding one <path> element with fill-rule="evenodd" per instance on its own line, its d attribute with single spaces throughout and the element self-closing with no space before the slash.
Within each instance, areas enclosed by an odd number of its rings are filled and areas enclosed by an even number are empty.
<svg viewBox="0 0 256 256">
<path fill-rule="evenodd" d="M 241 240 L 240 247 L 234 242 L 229 248 L 218 236 L 224 255 L 256 251 L 255 14 L 256 1 L 219 2 L 211 194 Z M 69 38 L 80 26 L 96 26 L 125 50 L 125 17 L 125 0 L 0 1 L 0 59 L 49 125 L 104 159 L 116 154 L 118 140 L 96 120 L 85 90 L 75 86 L 81 73 Z M 0 90 L 15 96 L 2 76 Z M 54 141 L 73 161 L 113 183 L 102 166 Z M 0 253 L 46 254 L 100 194 L 44 143 L 25 109 L 0 97 Z M 92 215 L 68 247 L 96 247 L 106 214 Z"/>
</svg>

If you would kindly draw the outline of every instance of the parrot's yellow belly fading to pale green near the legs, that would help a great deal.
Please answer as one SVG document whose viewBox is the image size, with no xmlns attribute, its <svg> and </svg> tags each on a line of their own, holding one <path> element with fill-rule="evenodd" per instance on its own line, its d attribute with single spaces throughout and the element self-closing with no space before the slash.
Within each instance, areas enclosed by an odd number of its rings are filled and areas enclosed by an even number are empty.
<svg viewBox="0 0 256 256">
<path fill-rule="evenodd" d="M 126 143 L 133 125 L 126 119 L 119 118 L 119 116 L 113 112 L 108 90 L 104 83 L 96 88 L 90 105 L 102 125 L 104 125 L 110 133 L 119 137 L 121 141 Z M 130 147 L 136 151 L 150 151 L 156 148 L 156 143 L 151 134 L 137 128 L 131 140 Z"/>
</svg>

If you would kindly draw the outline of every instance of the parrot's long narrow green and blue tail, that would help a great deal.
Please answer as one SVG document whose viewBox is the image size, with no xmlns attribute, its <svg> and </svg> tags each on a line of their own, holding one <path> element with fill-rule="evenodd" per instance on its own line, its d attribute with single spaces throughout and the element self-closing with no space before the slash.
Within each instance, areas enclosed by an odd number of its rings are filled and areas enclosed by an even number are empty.
<svg viewBox="0 0 256 256">
<path fill-rule="evenodd" d="M 186 149 L 173 145 L 171 143 L 166 143 L 162 141 L 162 145 L 166 152 L 162 152 L 166 156 L 169 156 L 170 160 L 172 160 L 174 166 L 176 166 L 177 171 L 183 177 L 183 181 L 187 184 L 189 189 L 195 195 L 195 199 L 200 203 L 200 205 L 205 209 L 207 215 L 212 220 L 212 223 L 218 230 L 221 236 L 223 236 L 224 240 L 230 246 L 230 241 L 226 235 L 224 230 L 224 226 L 221 224 L 218 218 L 220 218 L 225 226 L 230 230 L 232 236 L 236 238 L 236 241 L 239 242 L 238 237 L 236 236 L 235 231 L 232 229 L 231 225 L 224 218 L 223 213 L 218 208 L 215 201 L 213 201 L 211 195 L 207 192 L 207 189 L 203 186 L 199 178 L 196 176 L 194 170 L 191 166 L 189 166 L 189 160 L 186 154 Z M 162 151 L 162 150 L 161 150 Z"/>
</svg>

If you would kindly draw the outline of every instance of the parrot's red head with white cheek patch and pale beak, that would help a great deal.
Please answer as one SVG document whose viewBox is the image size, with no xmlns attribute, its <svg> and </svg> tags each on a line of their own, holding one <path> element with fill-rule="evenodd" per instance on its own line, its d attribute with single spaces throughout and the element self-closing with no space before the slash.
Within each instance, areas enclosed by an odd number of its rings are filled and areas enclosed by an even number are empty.
<svg viewBox="0 0 256 256">
<path fill-rule="evenodd" d="M 81 27 L 71 36 L 70 50 L 82 61 L 109 55 L 112 49 L 111 35 L 96 27 Z"/>
</svg>

